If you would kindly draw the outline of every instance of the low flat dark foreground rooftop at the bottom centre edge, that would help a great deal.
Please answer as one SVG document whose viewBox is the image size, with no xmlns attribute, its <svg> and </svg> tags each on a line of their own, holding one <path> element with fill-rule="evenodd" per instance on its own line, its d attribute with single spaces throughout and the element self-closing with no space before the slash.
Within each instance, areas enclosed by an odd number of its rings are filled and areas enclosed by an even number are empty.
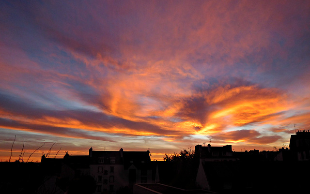
<svg viewBox="0 0 310 194">
<path fill-rule="evenodd" d="M 214 194 L 214 192 L 205 190 L 185 190 L 160 183 L 135 184 L 134 194 Z"/>
</svg>

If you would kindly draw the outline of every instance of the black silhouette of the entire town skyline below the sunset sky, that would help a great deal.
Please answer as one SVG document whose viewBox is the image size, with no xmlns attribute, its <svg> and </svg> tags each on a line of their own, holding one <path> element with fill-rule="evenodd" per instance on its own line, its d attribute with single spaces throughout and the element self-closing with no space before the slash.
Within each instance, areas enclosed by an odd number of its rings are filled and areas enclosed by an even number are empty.
<svg viewBox="0 0 310 194">
<path fill-rule="evenodd" d="M 1 162 L 2 192 L 25 194 L 294 193 L 309 189 L 310 131 L 291 135 L 290 149 L 233 151 L 196 145 L 165 161 L 151 152 L 97 150 L 40 163 Z M 283 181 L 289 177 L 289 181 Z"/>
</svg>

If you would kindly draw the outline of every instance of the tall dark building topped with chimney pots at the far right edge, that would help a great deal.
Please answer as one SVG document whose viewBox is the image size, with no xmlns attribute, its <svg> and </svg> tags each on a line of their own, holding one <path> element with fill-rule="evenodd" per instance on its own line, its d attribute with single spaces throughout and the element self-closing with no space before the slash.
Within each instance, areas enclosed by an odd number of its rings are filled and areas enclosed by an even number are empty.
<svg viewBox="0 0 310 194">
<path fill-rule="evenodd" d="M 291 135 L 290 150 L 294 160 L 309 161 L 310 160 L 310 132 L 298 131 Z"/>
</svg>

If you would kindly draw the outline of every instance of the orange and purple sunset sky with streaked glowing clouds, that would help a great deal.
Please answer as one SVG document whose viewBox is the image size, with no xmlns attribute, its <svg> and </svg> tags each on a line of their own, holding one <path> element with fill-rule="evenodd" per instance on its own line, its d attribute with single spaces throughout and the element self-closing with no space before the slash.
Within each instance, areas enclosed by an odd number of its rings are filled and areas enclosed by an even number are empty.
<svg viewBox="0 0 310 194">
<path fill-rule="evenodd" d="M 276 150 L 310 129 L 310 1 L 1 0 L 0 69 L 2 162 Z"/>
</svg>

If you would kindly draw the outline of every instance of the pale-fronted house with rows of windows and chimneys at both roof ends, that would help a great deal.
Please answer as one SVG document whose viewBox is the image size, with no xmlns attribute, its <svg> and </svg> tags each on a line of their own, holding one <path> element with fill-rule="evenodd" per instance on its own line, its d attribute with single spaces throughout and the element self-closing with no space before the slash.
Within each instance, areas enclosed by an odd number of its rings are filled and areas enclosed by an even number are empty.
<svg viewBox="0 0 310 194">
<path fill-rule="evenodd" d="M 152 182 L 149 151 L 89 150 L 90 175 L 96 181 L 96 192 L 114 192 L 132 187 L 135 183 Z"/>
</svg>

